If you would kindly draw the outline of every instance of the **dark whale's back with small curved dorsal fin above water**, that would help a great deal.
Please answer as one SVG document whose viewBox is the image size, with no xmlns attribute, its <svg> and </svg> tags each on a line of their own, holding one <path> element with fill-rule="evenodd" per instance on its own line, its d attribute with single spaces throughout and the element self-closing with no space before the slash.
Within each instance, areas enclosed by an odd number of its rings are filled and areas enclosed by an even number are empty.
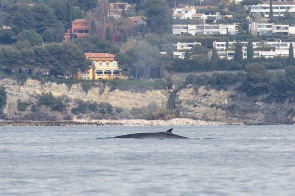
<svg viewBox="0 0 295 196">
<path fill-rule="evenodd" d="M 173 128 L 168 129 L 163 132 L 156 133 L 133 133 L 127 135 L 120 135 L 114 138 L 125 138 L 125 139 L 189 139 L 180 135 L 172 133 Z"/>
</svg>

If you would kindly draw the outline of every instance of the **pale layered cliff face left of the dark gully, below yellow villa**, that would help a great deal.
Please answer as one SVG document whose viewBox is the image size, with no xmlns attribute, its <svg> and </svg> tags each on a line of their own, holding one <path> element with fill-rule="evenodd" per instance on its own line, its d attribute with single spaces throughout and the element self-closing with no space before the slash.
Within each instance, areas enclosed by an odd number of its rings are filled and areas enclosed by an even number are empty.
<svg viewBox="0 0 295 196">
<path fill-rule="evenodd" d="M 88 94 L 85 93 L 81 84 L 73 84 L 71 88 L 66 84 L 57 84 L 28 79 L 24 84 L 19 84 L 13 79 L 1 79 L 0 85 L 5 87 L 7 92 L 7 104 L 3 110 L 7 118 L 22 116 L 26 112 L 19 112 L 17 101 L 30 101 L 36 103 L 41 93 L 52 92 L 54 96 L 67 96 L 68 98 L 83 99 L 84 101 L 109 102 L 114 107 L 132 109 L 133 107 L 143 107 L 150 103 L 160 107 L 166 107 L 169 94 L 166 90 L 153 90 L 145 93 L 135 93 L 130 91 L 109 91 L 108 87 L 92 87 Z M 69 108 L 70 109 L 70 108 Z M 29 107 L 28 107 L 29 112 Z M 58 114 L 57 114 L 58 115 Z"/>
</svg>

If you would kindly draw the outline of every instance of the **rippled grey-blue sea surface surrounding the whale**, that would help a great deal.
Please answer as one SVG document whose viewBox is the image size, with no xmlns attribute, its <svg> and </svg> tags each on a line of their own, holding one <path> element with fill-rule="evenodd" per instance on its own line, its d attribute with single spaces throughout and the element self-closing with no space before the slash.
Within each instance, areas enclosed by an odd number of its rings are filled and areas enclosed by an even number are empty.
<svg viewBox="0 0 295 196">
<path fill-rule="evenodd" d="M 201 139 L 108 138 L 168 128 Z M 295 126 L 0 127 L 8 195 L 294 196 Z"/>
</svg>

